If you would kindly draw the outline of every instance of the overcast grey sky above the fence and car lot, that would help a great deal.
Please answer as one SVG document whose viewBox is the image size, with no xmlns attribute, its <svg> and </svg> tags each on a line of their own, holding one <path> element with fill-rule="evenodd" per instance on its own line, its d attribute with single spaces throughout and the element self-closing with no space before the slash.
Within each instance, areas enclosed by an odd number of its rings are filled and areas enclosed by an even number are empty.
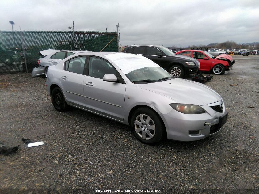
<svg viewBox="0 0 259 194">
<path fill-rule="evenodd" d="M 258 0 L 0 0 L 0 30 L 115 32 L 121 45 L 259 41 Z"/>
</svg>

